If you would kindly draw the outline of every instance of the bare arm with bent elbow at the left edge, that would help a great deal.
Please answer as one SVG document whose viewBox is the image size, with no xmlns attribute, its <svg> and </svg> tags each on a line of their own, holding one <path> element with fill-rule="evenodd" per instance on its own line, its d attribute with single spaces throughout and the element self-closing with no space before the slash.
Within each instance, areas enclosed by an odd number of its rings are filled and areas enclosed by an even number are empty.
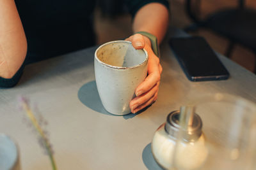
<svg viewBox="0 0 256 170">
<path fill-rule="evenodd" d="M 0 77 L 12 78 L 26 53 L 26 36 L 15 2 L 0 0 Z"/>
</svg>

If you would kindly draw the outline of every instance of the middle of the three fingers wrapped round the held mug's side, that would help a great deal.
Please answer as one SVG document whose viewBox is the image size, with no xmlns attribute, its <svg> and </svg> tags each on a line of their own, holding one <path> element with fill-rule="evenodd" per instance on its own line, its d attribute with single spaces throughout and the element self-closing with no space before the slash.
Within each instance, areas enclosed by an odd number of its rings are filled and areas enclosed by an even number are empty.
<svg viewBox="0 0 256 170">
<path fill-rule="evenodd" d="M 159 82 L 156 83 L 156 85 L 151 90 L 146 92 L 145 94 L 143 94 L 139 97 L 134 97 L 134 99 L 132 99 L 132 101 L 130 102 L 131 110 L 134 110 L 141 104 L 143 104 L 143 103 L 147 102 L 149 99 L 151 99 L 155 94 L 157 94 L 158 89 L 159 89 Z"/>
</svg>

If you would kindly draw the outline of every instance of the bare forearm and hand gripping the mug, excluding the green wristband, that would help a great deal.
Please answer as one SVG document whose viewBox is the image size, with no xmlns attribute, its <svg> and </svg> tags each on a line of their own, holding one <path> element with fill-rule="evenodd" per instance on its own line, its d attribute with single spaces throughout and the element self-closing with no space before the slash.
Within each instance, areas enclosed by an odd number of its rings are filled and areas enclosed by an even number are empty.
<svg viewBox="0 0 256 170">
<path fill-rule="evenodd" d="M 149 3 L 143 6 L 134 17 L 133 31 L 145 31 L 157 37 L 158 43 L 164 38 L 168 27 L 169 12 L 161 3 Z M 141 34 L 134 34 L 128 38 L 136 49 L 145 48 L 148 52 L 148 76 L 135 91 L 130 103 L 132 113 L 154 103 L 157 99 L 162 67 L 159 58 L 151 48 L 150 40 Z"/>
</svg>

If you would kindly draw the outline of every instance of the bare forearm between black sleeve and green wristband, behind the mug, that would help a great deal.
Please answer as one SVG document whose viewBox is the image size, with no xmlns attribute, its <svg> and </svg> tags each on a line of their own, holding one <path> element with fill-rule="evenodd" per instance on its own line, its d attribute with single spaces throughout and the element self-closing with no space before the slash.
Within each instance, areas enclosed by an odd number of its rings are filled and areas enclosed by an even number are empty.
<svg viewBox="0 0 256 170">
<path fill-rule="evenodd" d="M 168 17 L 168 9 L 163 4 L 149 3 L 136 13 L 132 29 L 134 32 L 150 32 L 161 43 L 168 27 Z"/>
</svg>

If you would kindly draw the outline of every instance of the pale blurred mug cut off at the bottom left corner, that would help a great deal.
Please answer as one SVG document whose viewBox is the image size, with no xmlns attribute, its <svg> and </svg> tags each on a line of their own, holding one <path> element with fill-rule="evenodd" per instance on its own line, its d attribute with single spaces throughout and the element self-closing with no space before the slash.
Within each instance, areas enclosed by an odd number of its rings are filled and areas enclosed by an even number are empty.
<svg viewBox="0 0 256 170">
<path fill-rule="evenodd" d="M 17 145 L 5 134 L 0 134 L 0 169 L 20 170 Z"/>
</svg>

